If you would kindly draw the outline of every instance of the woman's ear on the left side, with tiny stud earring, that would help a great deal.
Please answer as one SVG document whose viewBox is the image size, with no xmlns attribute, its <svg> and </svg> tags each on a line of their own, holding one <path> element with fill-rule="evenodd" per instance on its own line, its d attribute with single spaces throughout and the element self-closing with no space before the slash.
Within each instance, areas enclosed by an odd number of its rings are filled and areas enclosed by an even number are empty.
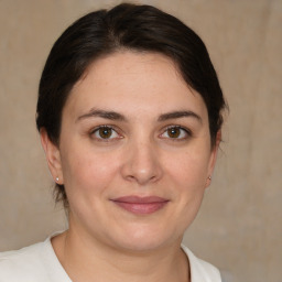
<svg viewBox="0 0 282 282">
<path fill-rule="evenodd" d="M 43 128 L 40 131 L 41 143 L 45 151 L 48 170 L 57 184 L 64 184 L 61 153 L 57 145 L 55 145 L 48 138 L 46 130 Z"/>
</svg>

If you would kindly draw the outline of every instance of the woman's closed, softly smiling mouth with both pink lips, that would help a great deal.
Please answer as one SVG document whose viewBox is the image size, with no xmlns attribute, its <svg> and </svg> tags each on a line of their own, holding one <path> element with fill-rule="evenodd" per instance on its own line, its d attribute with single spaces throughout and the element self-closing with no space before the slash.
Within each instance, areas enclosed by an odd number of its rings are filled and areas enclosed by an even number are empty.
<svg viewBox="0 0 282 282">
<path fill-rule="evenodd" d="M 139 197 L 139 196 L 124 196 L 119 198 L 113 198 L 111 202 L 119 207 L 126 209 L 135 215 L 150 215 L 169 204 L 169 199 L 149 196 L 149 197 Z"/>
</svg>

